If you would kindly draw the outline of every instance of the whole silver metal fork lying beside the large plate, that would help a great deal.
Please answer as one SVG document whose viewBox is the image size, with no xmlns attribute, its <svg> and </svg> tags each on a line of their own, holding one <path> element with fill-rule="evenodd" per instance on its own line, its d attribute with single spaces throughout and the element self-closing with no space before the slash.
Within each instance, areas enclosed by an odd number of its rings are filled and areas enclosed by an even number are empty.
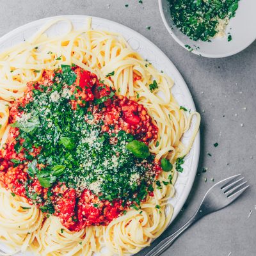
<svg viewBox="0 0 256 256">
<path fill-rule="evenodd" d="M 244 186 L 247 181 L 241 182 L 244 177 L 239 177 L 240 174 L 229 177 L 225 180 L 221 180 L 210 188 L 205 194 L 198 210 L 193 217 L 174 234 L 166 237 L 157 244 L 150 252 L 145 256 L 158 256 L 163 253 L 169 246 L 173 244 L 175 239 L 180 236 L 185 230 L 205 215 L 223 209 L 227 205 L 231 204 L 239 197 L 245 189 L 250 185 Z M 236 179 L 239 177 L 239 179 Z"/>
</svg>

